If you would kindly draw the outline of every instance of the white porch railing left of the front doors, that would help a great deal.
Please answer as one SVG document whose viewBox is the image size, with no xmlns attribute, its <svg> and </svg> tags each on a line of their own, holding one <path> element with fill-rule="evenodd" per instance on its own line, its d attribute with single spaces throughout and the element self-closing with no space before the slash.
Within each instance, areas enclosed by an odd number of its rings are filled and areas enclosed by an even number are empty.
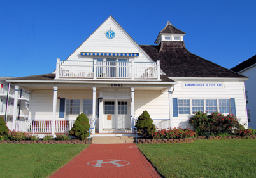
<svg viewBox="0 0 256 178">
<path fill-rule="evenodd" d="M 75 120 L 55 120 L 55 133 L 68 133 Z M 92 127 L 92 120 L 89 120 Z M 52 120 L 16 120 L 15 131 L 52 133 Z"/>
</svg>

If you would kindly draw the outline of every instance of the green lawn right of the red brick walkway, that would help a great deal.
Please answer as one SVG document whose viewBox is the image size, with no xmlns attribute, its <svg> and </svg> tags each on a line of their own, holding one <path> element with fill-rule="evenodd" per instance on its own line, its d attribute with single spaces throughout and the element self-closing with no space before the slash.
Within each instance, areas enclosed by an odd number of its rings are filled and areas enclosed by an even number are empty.
<svg viewBox="0 0 256 178">
<path fill-rule="evenodd" d="M 138 144 L 163 177 L 256 177 L 256 140 Z"/>
</svg>

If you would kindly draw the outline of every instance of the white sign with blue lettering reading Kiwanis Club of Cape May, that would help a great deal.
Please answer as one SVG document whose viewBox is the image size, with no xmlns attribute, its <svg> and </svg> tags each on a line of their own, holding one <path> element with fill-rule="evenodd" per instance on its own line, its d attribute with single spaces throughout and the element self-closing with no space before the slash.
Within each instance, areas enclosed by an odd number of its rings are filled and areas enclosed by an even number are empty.
<svg viewBox="0 0 256 178">
<path fill-rule="evenodd" d="M 224 82 L 182 82 L 183 88 L 198 89 L 198 88 L 211 88 L 211 89 L 223 89 Z"/>
</svg>

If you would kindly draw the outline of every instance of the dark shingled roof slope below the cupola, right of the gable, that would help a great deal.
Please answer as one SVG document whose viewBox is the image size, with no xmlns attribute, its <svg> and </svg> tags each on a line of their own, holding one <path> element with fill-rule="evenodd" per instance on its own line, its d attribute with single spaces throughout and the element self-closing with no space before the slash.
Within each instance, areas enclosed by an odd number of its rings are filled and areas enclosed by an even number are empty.
<svg viewBox="0 0 256 178">
<path fill-rule="evenodd" d="M 183 41 L 162 41 L 159 45 L 140 45 L 169 77 L 236 77 L 236 72 L 190 53 Z"/>
</svg>

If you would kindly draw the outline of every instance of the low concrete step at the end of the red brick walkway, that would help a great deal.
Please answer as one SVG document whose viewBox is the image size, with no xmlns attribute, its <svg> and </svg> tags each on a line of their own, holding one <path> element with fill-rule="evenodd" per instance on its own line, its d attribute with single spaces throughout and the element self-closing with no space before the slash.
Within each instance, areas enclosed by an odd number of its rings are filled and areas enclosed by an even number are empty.
<svg viewBox="0 0 256 178">
<path fill-rule="evenodd" d="M 134 143 L 133 136 L 97 136 L 92 137 L 94 144 L 109 144 L 109 143 Z"/>
</svg>

